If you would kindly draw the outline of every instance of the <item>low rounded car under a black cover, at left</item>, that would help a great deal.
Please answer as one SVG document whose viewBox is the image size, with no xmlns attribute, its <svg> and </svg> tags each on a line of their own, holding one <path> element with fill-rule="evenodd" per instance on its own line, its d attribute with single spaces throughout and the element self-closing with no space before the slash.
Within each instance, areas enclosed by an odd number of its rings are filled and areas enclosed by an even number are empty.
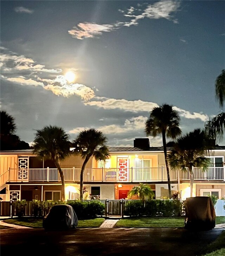
<svg viewBox="0 0 225 256">
<path fill-rule="evenodd" d="M 53 206 L 43 220 L 45 230 L 66 230 L 76 228 L 77 224 L 77 215 L 68 204 Z"/>
</svg>

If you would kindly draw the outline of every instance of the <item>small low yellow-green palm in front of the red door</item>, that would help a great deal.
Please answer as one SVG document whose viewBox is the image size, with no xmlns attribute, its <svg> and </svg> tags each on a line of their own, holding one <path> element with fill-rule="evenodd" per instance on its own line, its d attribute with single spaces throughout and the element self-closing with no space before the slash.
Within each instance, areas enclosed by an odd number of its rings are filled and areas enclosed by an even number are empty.
<svg viewBox="0 0 225 256">
<path fill-rule="evenodd" d="M 128 192 L 128 198 L 131 198 L 132 196 L 137 195 L 142 201 L 146 199 L 152 199 L 154 197 L 154 193 L 152 189 L 147 185 L 140 183 L 137 186 L 134 186 L 129 192 Z"/>
</svg>

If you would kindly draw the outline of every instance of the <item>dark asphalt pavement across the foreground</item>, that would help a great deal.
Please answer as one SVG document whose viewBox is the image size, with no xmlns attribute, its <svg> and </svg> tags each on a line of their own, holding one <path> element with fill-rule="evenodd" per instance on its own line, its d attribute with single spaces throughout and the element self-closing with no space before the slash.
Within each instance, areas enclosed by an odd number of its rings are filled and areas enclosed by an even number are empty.
<svg viewBox="0 0 225 256">
<path fill-rule="evenodd" d="M 78 228 L 1 230 L 1 256 L 159 255 L 194 256 L 222 232 L 183 228 Z"/>
</svg>

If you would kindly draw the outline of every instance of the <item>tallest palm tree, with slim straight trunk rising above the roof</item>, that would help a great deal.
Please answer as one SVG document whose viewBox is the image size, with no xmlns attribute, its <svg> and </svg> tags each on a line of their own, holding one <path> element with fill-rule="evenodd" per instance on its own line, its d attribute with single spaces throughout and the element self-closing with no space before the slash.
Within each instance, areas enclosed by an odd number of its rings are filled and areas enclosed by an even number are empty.
<svg viewBox="0 0 225 256">
<path fill-rule="evenodd" d="M 148 118 L 145 124 L 145 132 L 147 136 L 156 137 L 158 135 L 162 135 L 169 198 L 171 198 L 171 182 L 169 177 L 169 166 L 167 162 L 166 137 L 175 139 L 177 136 L 181 134 L 179 123 L 180 117 L 178 112 L 173 109 L 173 106 L 164 104 L 162 106 L 153 108 L 152 112 L 150 113 L 150 117 Z"/>
</svg>

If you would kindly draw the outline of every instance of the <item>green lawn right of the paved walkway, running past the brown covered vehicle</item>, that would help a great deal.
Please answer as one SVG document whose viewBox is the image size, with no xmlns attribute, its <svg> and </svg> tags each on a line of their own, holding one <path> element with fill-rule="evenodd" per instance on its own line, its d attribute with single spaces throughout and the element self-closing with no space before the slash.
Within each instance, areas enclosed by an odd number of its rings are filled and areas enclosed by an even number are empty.
<svg viewBox="0 0 225 256">
<path fill-rule="evenodd" d="M 119 220 L 115 227 L 184 227 L 184 217 L 126 218 Z M 225 223 L 225 216 L 216 217 L 216 224 Z"/>
</svg>

